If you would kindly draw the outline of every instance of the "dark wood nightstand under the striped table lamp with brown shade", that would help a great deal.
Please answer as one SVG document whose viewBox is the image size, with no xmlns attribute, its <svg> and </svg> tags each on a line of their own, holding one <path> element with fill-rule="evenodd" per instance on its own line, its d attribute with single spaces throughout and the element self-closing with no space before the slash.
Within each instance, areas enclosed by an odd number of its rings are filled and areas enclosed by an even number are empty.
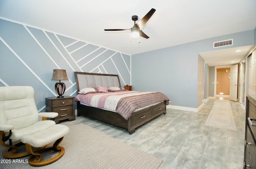
<svg viewBox="0 0 256 169">
<path fill-rule="evenodd" d="M 48 97 L 45 98 L 45 102 L 46 112 L 57 112 L 59 114 L 56 118 L 54 118 L 56 124 L 58 124 L 61 120 L 76 120 L 74 97 Z"/>
</svg>

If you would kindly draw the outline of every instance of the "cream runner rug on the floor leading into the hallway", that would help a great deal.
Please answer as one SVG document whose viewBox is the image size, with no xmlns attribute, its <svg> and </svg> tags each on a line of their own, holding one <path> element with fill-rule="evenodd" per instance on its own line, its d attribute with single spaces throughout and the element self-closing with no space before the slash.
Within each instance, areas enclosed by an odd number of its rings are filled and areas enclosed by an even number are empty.
<svg viewBox="0 0 256 169">
<path fill-rule="evenodd" d="M 214 103 L 205 125 L 236 131 L 229 100 L 217 100 Z"/>
</svg>

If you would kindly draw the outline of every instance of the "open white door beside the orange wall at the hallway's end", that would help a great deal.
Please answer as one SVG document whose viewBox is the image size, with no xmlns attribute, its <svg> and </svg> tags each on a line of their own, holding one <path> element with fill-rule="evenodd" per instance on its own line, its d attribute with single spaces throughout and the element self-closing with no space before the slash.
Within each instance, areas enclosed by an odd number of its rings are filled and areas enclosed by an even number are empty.
<svg viewBox="0 0 256 169">
<path fill-rule="evenodd" d="M 229 99 L 237 101 L 238 64 L 230 67 Z"/>
</svg>

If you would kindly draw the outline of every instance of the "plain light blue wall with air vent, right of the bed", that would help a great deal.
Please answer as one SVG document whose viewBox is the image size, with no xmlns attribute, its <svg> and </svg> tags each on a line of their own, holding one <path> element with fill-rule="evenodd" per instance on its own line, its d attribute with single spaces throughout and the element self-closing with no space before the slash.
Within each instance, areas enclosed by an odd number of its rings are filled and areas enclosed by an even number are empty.
<svg viewBox="0 0 256 169">
<path fill-rule="evenodd" d="M 198 53 L 218 50 L 213 49 L 213 42 L 226 39 L 234 39 L 234 45 L 221 49 L 254 45 L 254 30 L 132 55 L 134 90 L 160 91 L 170 98 L 170 105 L 198 108 L 202 103 L 199 98 L 204 98 L 204 91 L 198 86 L 204 76 Z"/>
</svg>

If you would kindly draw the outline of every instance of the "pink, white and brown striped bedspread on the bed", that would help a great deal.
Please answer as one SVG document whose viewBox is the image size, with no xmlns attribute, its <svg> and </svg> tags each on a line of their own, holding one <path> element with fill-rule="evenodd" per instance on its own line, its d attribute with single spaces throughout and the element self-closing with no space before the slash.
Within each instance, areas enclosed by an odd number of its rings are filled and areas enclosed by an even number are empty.
<svg viewBox="0 0 256 169">
<path fill-rule="evenodd" d="M 161 92 L 119 91 L 78 94 L 76 101 L 83 102 L 93 107 L 106 108 L 118 112 L 128 120 L 136 109 L 170 99 Z"/>
</svg>

